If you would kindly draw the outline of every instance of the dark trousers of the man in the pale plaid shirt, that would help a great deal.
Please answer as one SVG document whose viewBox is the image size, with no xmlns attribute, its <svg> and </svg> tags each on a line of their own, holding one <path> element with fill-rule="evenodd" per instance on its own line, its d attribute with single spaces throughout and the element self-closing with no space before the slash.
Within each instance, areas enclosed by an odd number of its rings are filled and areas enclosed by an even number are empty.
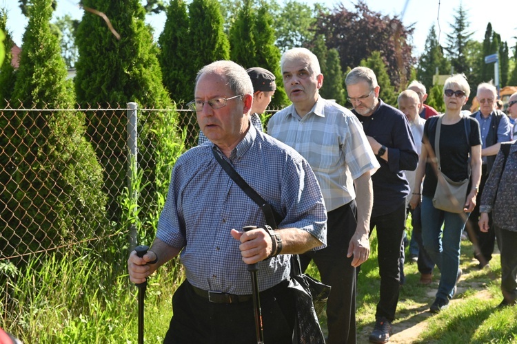
<svg viewBox="0 0 517 344">
<path fill-rule="evenodd" d="M 355 200 L 327 213 L 327 247 L 300 256 L 302 271 L 311 259 L 321 281 L 332 287 L 327 301 L 327 344 L 354 344 L 356 338 L 356 268 L 347 258 L 350 239 L 356 231 Z"/>
</svg>

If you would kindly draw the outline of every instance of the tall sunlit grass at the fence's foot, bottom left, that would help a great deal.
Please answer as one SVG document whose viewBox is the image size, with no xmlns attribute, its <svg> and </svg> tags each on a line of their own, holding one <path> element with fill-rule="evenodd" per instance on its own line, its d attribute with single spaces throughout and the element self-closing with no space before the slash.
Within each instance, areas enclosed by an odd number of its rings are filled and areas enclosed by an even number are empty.
<svg viewBox="0 0 517 344">
<path fill-rule="evenodd" d="M 74 256 L 77 252 L 34 259 L 10 277 L 4 293 L 9 301 L 3 299 L 8 316 L 1 327 L 24 343 L 135 343 L 137 288 L 129 282 L 125 258 L 102 261 L 88 250 Z M 145 303 L 150 343 L 158 343 L 168 326 L 171 311 L 159 313 L 170 308 L 182 275 L 172 261 L 150 279 Z"/>
</svg>

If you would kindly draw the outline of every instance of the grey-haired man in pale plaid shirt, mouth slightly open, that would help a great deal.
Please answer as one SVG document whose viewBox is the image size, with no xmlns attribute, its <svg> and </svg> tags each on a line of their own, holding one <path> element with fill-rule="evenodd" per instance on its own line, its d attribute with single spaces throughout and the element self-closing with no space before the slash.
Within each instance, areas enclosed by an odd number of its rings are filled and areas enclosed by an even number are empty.
<svg viewBox="0 0 517 344">
<path fill-rule="evenodd" d="M 302 268 L 312 259 L 332 286 L 327 343 L 356 343 L 356 266 L 369 257 L 371 175 L 379 164 L 356 116 L 319 96 L 323 74 L 312 52 L 288 50 L 281 69 L 293 104 L 272 116 L 267 132 L 307 159 L 328 211 L 327 248 L 302 255 Z"/>
</svg>

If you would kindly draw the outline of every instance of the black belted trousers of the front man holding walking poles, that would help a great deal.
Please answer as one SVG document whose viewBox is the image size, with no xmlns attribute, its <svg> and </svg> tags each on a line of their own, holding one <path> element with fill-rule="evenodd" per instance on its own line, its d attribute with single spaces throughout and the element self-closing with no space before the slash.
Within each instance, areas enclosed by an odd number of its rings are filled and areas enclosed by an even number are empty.
<svg viewBox="0 0 517 344">
<path fill-rule="evenodd" d="M 275 291 L 260 294 L 264 342 L 291 344 L 296 314 L 294 294 L 287 283 L 285 288 Z M 172 297 L 172 311 L 163 343 L 256 343 L 252 300 L 211 303 L 195 294 L 190 283 L 184 281 Z"/>
</svg>

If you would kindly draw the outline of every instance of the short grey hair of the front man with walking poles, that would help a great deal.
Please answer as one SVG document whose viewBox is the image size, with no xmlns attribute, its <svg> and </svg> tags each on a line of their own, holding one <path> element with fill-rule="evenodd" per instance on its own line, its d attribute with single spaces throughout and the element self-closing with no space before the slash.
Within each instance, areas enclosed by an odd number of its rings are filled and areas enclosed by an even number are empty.
<svg viewBox="0 0 517 344">
<path fill-rule="evenodd" d="M 220 75 L 235 95 L 253 94 L 253 84 L 246 69 L 233 61 L 215 61 L 201 68 L 196 76 L 196 85 L 203 74 Z"/>
</svg>

